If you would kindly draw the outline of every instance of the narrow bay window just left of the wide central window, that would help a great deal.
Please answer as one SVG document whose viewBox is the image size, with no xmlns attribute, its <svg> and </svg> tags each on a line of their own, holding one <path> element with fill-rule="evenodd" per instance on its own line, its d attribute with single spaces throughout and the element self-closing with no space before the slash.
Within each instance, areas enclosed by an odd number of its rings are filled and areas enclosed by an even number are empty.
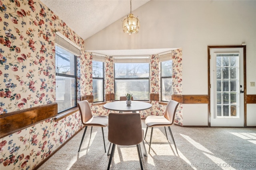
<svg viewBox="0 0 256 170">
<path fill-rule="evenodd" d="M 92 94 L 94 102 L 104 101 L 104 62 L 92 57 Z"/>
</svg>

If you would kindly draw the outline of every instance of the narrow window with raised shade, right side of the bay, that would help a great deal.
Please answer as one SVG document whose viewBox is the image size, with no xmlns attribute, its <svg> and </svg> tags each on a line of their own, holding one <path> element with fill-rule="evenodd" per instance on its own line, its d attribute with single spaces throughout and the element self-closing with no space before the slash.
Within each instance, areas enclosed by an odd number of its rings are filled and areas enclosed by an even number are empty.
<svg viewBox="0 0 256 170">
<path fill-rule="evenodd" d="M 172 60 L 171 53 L 159 57 L 161 68 L 161 101 L 172 99 Z"/>
</svg>

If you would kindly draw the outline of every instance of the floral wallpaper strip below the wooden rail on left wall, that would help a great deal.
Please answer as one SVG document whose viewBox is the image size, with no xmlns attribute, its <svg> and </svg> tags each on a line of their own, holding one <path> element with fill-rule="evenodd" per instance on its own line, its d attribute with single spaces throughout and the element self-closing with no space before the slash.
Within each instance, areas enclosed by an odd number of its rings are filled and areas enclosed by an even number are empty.
<svg viewBox="0 0 256 170">
<path fill-rule="evenodd" d="M 0 169 L 31 170 L 82 127 L 80 113 L 48 119 L 0 140 Z"/>
</svg>

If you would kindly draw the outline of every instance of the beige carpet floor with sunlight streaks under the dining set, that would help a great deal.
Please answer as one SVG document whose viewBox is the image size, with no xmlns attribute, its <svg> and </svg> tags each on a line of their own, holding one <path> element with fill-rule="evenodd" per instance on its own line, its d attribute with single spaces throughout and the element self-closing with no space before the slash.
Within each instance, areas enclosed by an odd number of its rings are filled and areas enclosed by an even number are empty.
<svg viewBox="0 0 256 170">
<path fill-rule="evenodd" d="M 142 120 L 143 129 L 146 130 Z M 175 152 L 170 133 L 154 128 L 152 148 L 142 158 L 144 170 L 255 170 L 256 128 L 171 127 L 178 149 Z M 151 128 L 146 136 L 148 152 Z M 78 148 L 84 130 L 56 152 L 38 170 L 106 170 L 110 156 L 104 152 L 102 131 L 88 127 L 80 153 Z M 104 128 L 108 152 L 108 129 Z M 112 170 L 140 170 L 136 146 L 117 146 L 110 166 Z"/>
</svg>

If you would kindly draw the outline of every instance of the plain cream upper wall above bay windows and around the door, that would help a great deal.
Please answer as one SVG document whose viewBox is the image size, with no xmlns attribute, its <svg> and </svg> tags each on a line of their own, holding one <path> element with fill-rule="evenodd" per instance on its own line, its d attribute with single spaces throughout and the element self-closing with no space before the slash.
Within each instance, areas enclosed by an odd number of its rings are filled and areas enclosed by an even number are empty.
<svg viewBox="0 0 256 170">
<path fill-rule="evenodd" d="M 207 46 L 246 43 L 247 94 L 256 94 L 256 1 L 151 0 L 132 14 L 140 19 L 138 34 L 123 33 L 120 18 L 86 39 L 85 49 L 182 48 L 182 94 L 207 95 Z"/>
</svg>

